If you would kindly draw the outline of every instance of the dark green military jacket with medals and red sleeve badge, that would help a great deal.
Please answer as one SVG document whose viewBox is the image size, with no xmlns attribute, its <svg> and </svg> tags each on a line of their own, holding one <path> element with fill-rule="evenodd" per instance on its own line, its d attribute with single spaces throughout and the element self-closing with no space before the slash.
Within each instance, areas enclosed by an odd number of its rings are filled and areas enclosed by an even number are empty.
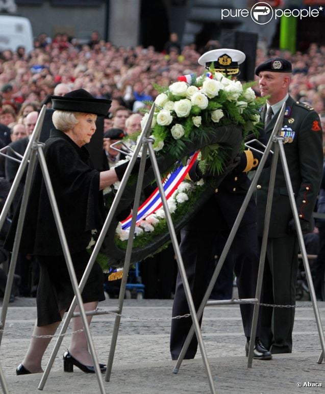
<svg viewBox="0 0 325 394">
<path fill-rule="evenodd" d="M 262 109 L 264 121 L 266 106 Z M 265 128 L 267 140 L 276 123 L 278 114 Z M 312 214 L 322 178 L 322 130 L 320 120 L 313 108 L 288 97 L 282 126 L 283 133 L 291 136 L 292 142 L 284 144 L 284 151 L 290 172 L 291 183 L 299 218 L 308 222 L 308 231 L 313 229 Z M 270 179 L 270 169 L 262 171 L 257 185 L 258 234 L 263 234 L 265 207 Z M 287 235 L 288 222 L 292 219 L 286 181 L 279 154 L 276 181 L 272 201 L 268 237 Z"/>
</svg>

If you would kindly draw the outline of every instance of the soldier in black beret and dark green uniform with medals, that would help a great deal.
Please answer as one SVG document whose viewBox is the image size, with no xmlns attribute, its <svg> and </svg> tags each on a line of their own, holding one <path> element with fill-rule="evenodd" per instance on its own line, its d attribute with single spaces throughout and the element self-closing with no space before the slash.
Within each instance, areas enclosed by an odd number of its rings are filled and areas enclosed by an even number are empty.
<svg viewBox="0 0 325 394">
<path fill-rule="evenodd" d="M 270 97 L 262 109 L 267 123 L 269 108 L 274 114 L 265 133 L 270 137 L 277 113 L 283 103 L 286 109 L 282 134 L 288 137 L 284 151 L 288 163 L 296 208 L 304 233 L 313 229 L 312 214 L 322 177 L 322 130 L 313 108 L 295 101 L 288 94 L 291 63 L 282 58 L 270 59 L 255 71 L 259 76 L 261 95 Z M 263 234 L 270 168 L 262 171 L 257 187 L 258 231 Z M 288 190 L 279 159 L 274 185 L 271 220 L 268 233 L 262 300 L 276 305 L 295 305 L 298 266 L 298 240 L 291 212 Z M 272 353 L 291 353 L 294 307 L 262 308 L 262 340 Z"/>
</svg>

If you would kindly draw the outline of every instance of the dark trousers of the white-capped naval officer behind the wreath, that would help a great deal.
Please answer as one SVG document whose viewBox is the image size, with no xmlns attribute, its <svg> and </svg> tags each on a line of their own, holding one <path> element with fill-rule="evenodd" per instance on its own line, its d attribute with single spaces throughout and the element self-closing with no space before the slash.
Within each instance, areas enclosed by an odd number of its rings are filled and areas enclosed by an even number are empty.
<svg viewBox="0 0 325 394">
<path fill-rule="evenodd" d="M 211 217 L 216 218 L 213 215 Z M 218 218 L 221 218 L 221 216 L 219 215 Z M 197 221 L 194 220 L 181 231 L 180 249 L 196 310 L 201 304 L 210 280 L 209 265 L 217 231 L 215 223 L 217 221 L 211 225 L 206 223 L 205 226 L 199 226 Z M 226 237 L 226 234 L 224 233 L 223 236 Z M 239 227 L 233 242 L 232 254 L 235 262 L 234 271 L 237 276 L 239 298 L 254 298 L 259 265 L 256 223 L 245 224 Z M 240 305 L 246 337 L 249 337 L 251 334 L 253 310 L 253 305 Z M 186 313 L 189 313 L 189 308 L 182 279 L 180 274 L 178 274 L 172 316 Z M 202 319 L 199 321 L 200 324 L 201 321 Z M 172 359 L 177 359 L 179 356 L 191 325 L 191 317 L 172 320 L 170 332 L 170 353 Z M 259 332 L 257 332 L 257 336 L 259 336 Z M 185 358 L 193 358 L 196 350 L 197 339 L 194 334 Z"/>
</svg>

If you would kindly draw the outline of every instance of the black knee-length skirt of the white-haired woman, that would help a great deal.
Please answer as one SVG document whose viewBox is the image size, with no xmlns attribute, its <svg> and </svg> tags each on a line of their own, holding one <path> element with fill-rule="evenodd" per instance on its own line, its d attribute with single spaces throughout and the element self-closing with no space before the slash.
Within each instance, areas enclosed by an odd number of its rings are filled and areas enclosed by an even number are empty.
<svg viewBox="0 0 325 394">
<path fill-rule="evenodd" d="M 69 309 L 74 293 L 64 256 L 36 257 L 40 266 L 36 296 L 37 326 L 45 326 L 62 320 L 59 311 Z M 78 283 L 85 272 L 89 257 L 86 250 L 71 254 Z M 95 262 L 81 294 L 83 302 L 105 300 L 103 283 L 103 271 Z"/>
</svg>

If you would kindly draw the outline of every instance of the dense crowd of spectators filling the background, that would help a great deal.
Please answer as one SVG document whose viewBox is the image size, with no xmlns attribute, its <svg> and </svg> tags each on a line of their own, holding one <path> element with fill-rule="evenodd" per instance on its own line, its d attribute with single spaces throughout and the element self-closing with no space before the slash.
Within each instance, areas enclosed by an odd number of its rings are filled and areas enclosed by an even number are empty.
<svg viewBox="0 0 325 394">
<path fill-rule="evenodd" d="M 49 97 L 52 95 L 63 96 L 71 90 L 84 88 L 96 98 L 112 100 L 110 115 L 104 119 L 103 136 L 110 167 L 120 159 L 120 154 L 110 148 L 111 143 L 119 139 L 116 137 L 118 130 L 127 135 L 140 129 L 141 110 L 148 108 L 148 102 L 158 95 L 155 84 L 168 86 L 180 75 L 204 72 L 204 66 L 197 62 L 201 54 L 195 45 L 181 47 L 176 35 L 171 38 L 163 52 L 157 52 L 152 46 L 116 47 L 101 40 L 96 32 L 88 43 L 82 45 L 77 40 L 69 40 L 65 34 L 57 34 L 53 39 L 41 34 L 29 54 L 23 47 L 15 52 L 4 50 L 0 54 L 0 148 L 9 144 L 23 145 L 20 152 L 23 153 L 42 104 L 51 106 Z M 213 45 L 217 48 L 219 44 L 214 41 Z M 324 128 L 325 46 L 311 43 L 306 53 L 293 55 L 279 49 L 265 53 L 258 48 L 256 63 L 277 56 L 292 63 L 291 97 L 313 107 Z M 253 89 L 260 94 L 258 85 Z M 24 143 L 17 142 L 19 140 Z M 17 170 L 11 171 L 11 167 L 17 165 L 7 164 L 6 167 L 6 161 L 0 157 L 0 176 L 10 185 Z M 147 294 L 151 297 L 172 296 L 175 264 L 173 261 L 173 268 L 170 268 L 173 274 L 168 279 L 172 282 L 168 288 L 172 290 L 167 295 L 162 291 L 160 295 L 157 286 L 152 292 L 148 285 Z M 34 277 L 31 278 L 29 270 L 21 273 L 24 277 L 21 278 L 21 295 L 35 295 Z M 318 297 L 321 296 L 318 294 Z"/>
</svg>

